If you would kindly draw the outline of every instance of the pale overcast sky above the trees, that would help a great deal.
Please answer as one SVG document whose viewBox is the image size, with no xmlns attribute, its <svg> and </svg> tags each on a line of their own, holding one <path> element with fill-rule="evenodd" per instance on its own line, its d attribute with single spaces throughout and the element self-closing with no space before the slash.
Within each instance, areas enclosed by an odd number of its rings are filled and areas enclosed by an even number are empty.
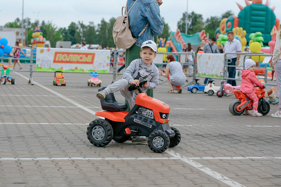
<svg viewBox="0 0 281 187">
<path fill-rule="evenodd" d="M 189 0 L 188 12 L 203 15 L 204 21 L 210 16 L 220 16 L 227 10 L 232 10 L 238 16 L 240 9 L 235 2 L 246 6 L 244 0 Z M 263 0 L 265 4 L 266 0 Z M 281 19 L 281 0 L 269 0 L 270 7 L 276 6 L 275 15 Z M 24 17 L 30 17 L 34 22 L 39 17 L 42 20 L 52 21 L 57 27 L 67 27 L 71 22 L 83 21 L 84 24 L 100 23 L 104 18 L 108 21 L 111 17 L 121 15 L 121 7 L 126 5 L 126 0 L 25 0 Z M 187 0 L 163 0 L 160 6 L 161 17 L 165 18 L 171 31 L 176 31 L 177 22 L 186 11 Z M 39 14 L 38 14 L 39 12 Z M 7 22 L 22 17 L 22 0 L 1 0 L 0 26 Z M 218 25 L 219 27 L 219 25 Z"/>
</svg>

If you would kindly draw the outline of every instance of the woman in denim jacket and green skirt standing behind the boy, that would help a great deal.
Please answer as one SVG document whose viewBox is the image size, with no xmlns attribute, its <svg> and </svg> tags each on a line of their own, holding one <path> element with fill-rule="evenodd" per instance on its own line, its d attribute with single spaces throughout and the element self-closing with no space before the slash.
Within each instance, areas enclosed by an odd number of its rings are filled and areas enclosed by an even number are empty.
<svg viewBox="0 0 281 187">
<path fill-rule="evenodd" d="M 135 0 L 128 0 L 127 10 L 130 10 Z M 131 48 L 126 49 L 125 66 L 130 65 L 131 61 L 140 58 L 141 44 L 144 41 L 154 41 L 154 35 L 162 34 L 164 24 L 161 22 L 159 6 L 162 0 L 138 0 L 129 12 L 130 29 L 133 37 L 142 31 L 145 25 L 149 22 L 147 28 L 140 37 L 137 38 L 136 43 Z M 148 89 L 146 94 L 153 97 L 152 89 Z"/>
</svg>

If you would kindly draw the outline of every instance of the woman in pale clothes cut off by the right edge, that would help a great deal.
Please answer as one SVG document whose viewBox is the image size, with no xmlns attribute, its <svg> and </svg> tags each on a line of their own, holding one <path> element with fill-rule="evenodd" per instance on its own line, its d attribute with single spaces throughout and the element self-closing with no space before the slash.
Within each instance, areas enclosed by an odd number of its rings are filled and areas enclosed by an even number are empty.
<svg viewBox="0 0 281 187">
<path fill-rule="evenodd" d="M 280 97 L 280 89 L 281 89 L 281 30 L 279 30 L 276 34 L 276 44 L 272 57 L 272 64 L 275 71 L 276 76 L 276 84 L 278 87 L 278 97 L 279 97 L 279 110 L 271 114 L 272 117 L 281 117 L 281 97 Z"/>
</svg>

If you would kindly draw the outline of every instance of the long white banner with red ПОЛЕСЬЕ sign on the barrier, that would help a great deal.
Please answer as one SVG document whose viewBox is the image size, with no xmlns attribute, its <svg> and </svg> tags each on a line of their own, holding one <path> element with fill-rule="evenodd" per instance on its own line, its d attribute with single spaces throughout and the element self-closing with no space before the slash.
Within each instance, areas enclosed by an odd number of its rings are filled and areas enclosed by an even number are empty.
<svg viewBox="0 0 281 187">
<path fill-rule="evenodd" d="M 37 48 L 37 71 L 109 73 L 110 50 Z"/>
</svg>

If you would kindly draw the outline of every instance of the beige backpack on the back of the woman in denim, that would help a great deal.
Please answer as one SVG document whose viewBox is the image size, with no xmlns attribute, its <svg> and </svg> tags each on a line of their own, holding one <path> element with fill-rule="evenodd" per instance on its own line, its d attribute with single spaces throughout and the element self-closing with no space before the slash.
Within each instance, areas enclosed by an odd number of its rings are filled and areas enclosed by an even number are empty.
<svg viewBox="0 0 281 187">
<path fill-rule="evenodd" d="M 138 0 L 134 2 L 132 7 L 135 5 L 135 3 Z M 127 1 L 128 2 L 128 1 Z M 141 34 L 145 31 L 145 29 L 148 26 L 148 23 L 146 24 L 145 28 L 138 34 L 137 38 L 134 38 L 132 36 L 131 30 L 130 30 L 130 23 L 129 23 L 129 18 L 128 18 L 128 13 L 127 12 L 127 2 L 126 2 L 126 7 L 122 7 L 122 16 L 118 16 L 116 19 L 116 22 L 113 25 L 113 30 L 112 30 L 112 36 L 114 40 L 114 44 L 118 48 L 123 48 L 123 49 L 129 49 L 132 45 L 136 43 L 136 40 Z M 125 8 L 125 15 L 123 15 L 123 8 Z"/>
</svg>

